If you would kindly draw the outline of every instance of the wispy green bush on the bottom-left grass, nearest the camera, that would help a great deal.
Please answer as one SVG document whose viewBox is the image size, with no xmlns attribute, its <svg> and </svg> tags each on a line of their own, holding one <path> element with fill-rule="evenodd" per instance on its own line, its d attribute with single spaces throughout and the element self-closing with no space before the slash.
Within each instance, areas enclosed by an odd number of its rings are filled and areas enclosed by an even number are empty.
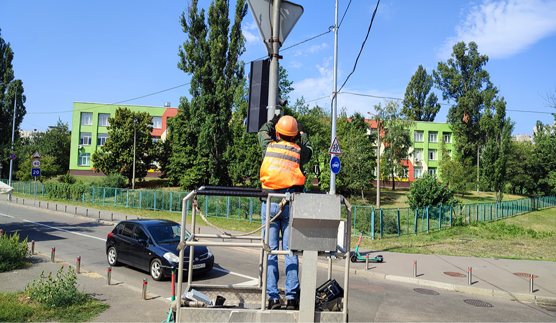
<svg viewBox="0 0 556 323">
<path fill-rule="evenodd" d="M 73 267 L 68 266 L 66 274 L 63 274 L 63 270 L 62 265 L 56 274 L 56 279 L 52 278 L 52 272 L 45 277 L 42 271 L 38 280 L 33 280 L 25 287 L 27 297 L 50 309 L 86 302 L 88 296 L 77 289 L 77 276 Z"/>
</svg>

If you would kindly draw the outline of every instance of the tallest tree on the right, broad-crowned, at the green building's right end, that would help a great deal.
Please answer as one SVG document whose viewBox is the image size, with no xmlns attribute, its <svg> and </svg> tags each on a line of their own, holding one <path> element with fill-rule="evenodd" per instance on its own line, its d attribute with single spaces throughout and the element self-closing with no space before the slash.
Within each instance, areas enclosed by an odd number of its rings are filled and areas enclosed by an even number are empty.
<svg viewBox="0 0 556 323">
<path fill-rule="evenodd" d="M 498 89 L 483 69 L 488 56 L 479 54 L 475 42 L 455 44 L 451 57 L 446 63 L 438 63 L 433 77 L 443 99 L 454 102 L 448 111 L 448 122 L 454 134 L 456 158 L 473 164 L 484 142 L 481 111 L 490 107 Z"/>
</svg>

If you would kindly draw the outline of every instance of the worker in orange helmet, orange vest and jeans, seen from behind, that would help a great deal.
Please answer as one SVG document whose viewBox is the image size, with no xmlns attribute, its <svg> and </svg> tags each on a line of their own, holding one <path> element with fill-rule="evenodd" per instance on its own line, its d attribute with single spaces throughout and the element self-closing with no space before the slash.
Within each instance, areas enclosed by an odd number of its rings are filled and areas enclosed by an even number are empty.
<svg viewBox="0 0 556 323">
<path fill-rule="evenodd" d="M 272 135 L 276 134 L 276 140 Z M 262 165 L 260 171 L 262 189 L 276 193 L 290 193 L 304 191 L 305 175 L 302 166 L 309 162 L 312 156 L 309 135 L 303 132 L 302 125 L 290 115 L 280 118 L 276 115 L 272 120 L 262 125 L 259 130 L 259 144 L 262 150 Z M 295 144 L 294 139 L 300 139 L 300 144 Z M 280 211 L 279 200 L 272 200 L 270 207 L 270 218 Z M 262 224 L 266 221 L 267 201 L 262 202 L 261 214 Z M 284 205 L 282 213 L 270 223 L 269 247 L 278 250 L 280 244 L 280 233 L 282 234 L 282 250 L 290 250 L 289 231 L 290 204 Z M 265 229 L 262 231 L 265 236 Z M 285 256 L 286 260 L 286 309 L 299 309 L 299 263 L 297 256 Z M 266 281 L 266 292 L 269 295 L 268 309 L 280 309 L 280 297 L 278 291 L 278 256 L 269 255 L 268 275 Z"/>
</svg>

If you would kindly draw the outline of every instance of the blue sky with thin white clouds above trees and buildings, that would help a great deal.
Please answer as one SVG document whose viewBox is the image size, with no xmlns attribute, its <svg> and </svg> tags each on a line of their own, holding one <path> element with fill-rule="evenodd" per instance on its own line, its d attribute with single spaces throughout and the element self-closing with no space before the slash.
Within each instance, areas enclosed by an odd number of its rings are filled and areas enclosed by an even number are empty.
<svg viewBox="0 0 556 323">
<path fill-rule="evenodd" d="M 300 1 L 304 14 L 283 48 L 329 30 L 335 2 Z M 340 1 L 340 19 L 347 0 Z M 200 1 L 208 8 L 209 1 Z M 232 5 L 235 5 L 232 1 Z M 27 96 L 24 130 L 45 130 L 58 118 L 71 125 L 74 101 L 117 103 L 189 81 L 177 69 L 186 39 L 179 17 L 187 1 L 2 1 L 2 37 L 14 51 L 16 78 Z M 376 2 L 352 1 L 339 29 L 338 83 L 354 66 Z M 514 133 L 532 133 L 537 120 L 553 123 L 547 91 L 556 87 L 556 1 L 381 1 L 355 73 L 342 92 L 403 98 L 419 64 L 427 72 L 450 57 L 458 41 L 475 41 L 489 56 L 485 69 L 515 122 Z M 243 25 L 245 62 L 266 55 L 251 13 Z M 332 92 L 334 33 L 281 52 L 294 82 L 290 100 L 310 101 Z M 441 98 L 438 90 L 435 93 Z M 126 104 L 177 107 L 188 85 Z M 383 99 L 339 94 L 348 113 L 373 111 Z M 446 103 L 442 101 L 443 103 Z M 330 108 L 330 99 L 312 101 Z M 445 122 L 448 106 L 436 117 Z"/>
</svg>

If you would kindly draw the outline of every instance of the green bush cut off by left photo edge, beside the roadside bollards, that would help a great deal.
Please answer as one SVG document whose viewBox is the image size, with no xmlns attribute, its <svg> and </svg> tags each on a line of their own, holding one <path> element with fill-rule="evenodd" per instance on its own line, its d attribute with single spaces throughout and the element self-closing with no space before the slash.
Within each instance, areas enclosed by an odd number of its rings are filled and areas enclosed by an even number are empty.
<svg viewBox="0 0 556 323">
<path fill-rule="evenodd" d="M 0 236 L 0 272 L 22 268 L 29 255 L 27 238 L 19 241 L 19 234 Z"/>
</svg>

